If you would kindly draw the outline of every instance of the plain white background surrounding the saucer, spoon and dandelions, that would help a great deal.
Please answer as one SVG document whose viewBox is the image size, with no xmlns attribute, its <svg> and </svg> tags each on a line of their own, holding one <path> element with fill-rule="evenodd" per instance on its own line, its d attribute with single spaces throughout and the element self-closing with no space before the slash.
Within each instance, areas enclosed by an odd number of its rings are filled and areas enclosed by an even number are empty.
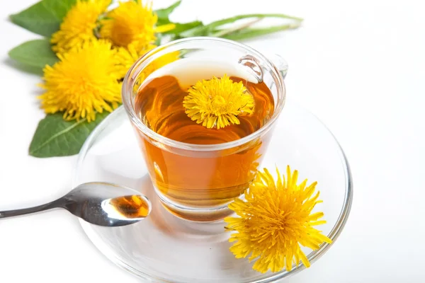
<svg viewBox="0 0 425 283">
<path fill-rule="evenodd" d="M 38 35 L 0 9 L 0 210 L 70 189 L 76 156 L 33 158 L 40 77 L 13 67 L 12 47 Z M 6 4 L 5 0 L 1 1 Z M 172 1 L 154 0 L 155 7 Z M 302 28 L 248 43 L 288 60 L 288 97 L 314 112 L 351 163 L 354 201 L 341 237 L 286 282 L 424 282 L 425 16 L 422 1 L 183 0 L 173 18 L 288 13 Z M 91 245 L 77 219 L 54 211 L 0 221 L 0 282 L 137 282 Z M 224 283 L 224 282 L 223 282 Z"/>
</svg>

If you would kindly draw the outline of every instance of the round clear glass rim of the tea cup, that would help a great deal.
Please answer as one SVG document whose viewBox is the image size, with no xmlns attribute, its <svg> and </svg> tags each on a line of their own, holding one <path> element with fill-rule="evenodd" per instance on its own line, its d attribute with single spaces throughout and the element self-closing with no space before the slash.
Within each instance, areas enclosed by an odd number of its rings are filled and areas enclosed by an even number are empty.
<svg viewBox="0 0 425 283">
<path fill-rule="evenodd" d="M 135 109 L 132 107 L 132 101 L 131 101 L 131 95 L 132 95 L 132 87 L 134 84 L 134 80 L 130 78 L 130 75 L 135 71 L 135 69 L 144 67 L 143 63 L 145 60 L 149 57 L 151 57 L 153 54 L 157 53 L 159 50 L 164 50 L 167 47 L 171 47 L 173 45 L 177 45 L 183 42 L 220 42 L 220 43 L 226 43 L 229 46 L 234 45 L 236 47 L 242 47 L 246 51 L 251 52 L 251 54 L 254 54 L 256 58 L 261 59 L 261 61 L 266 64 L 272 72 L 273 79 L 276 81 L 276 89 L 278 92 L 278 101 L 276 103 L 275 111 L 273 112 L 273 115 L 271 118 L 266 122 L 263 127 L 256 130 L 255 132 L 247 135 L 246 137 L 243 137 L 242 139 L 237 139 L 234 141 L 227 141 L 222 144 L 188 144 L 182 141 L 175 141 L 174 139 L 170 139 L 168 137 L 164 137 L 161 134 L 158 134 L 157 132 L 154 132 L 152 129 L 149 129 L 137 116 Z M 128 116 L 130 117 L 130 120 L 132 120 L 133 125 L 137 127 L 143 134 L 147 135 L 147 137 L 153 139 L 154 141 L 159 141 L 163 145 L 171 146 L 175 149 L 183 149 L 183 150 L 190 150 L 190 151 L 219 151 L 219 150 L 225 150 L 225 149 L 232 149 L 236 146 L 241 146 L 242 144 L 246 144 L 246 142 L 249 142 L 251 140 L 256 139 L 257 137 L 260 137 L 261 134 L 268 132 L 269 129 L 271 129 L 271 126 L 276 122 L 280 112 L 283 110 L 283 106 L 285 105 L 285 83 L 283 82 L 283 77 L 280 75 L 277 67 L 263 54 L 258 52 L 257 50 L 254 50 L 254 48 L 249 47 L 248 45 L 244 45 L 240 42 L 235 42 L 233 40 L 227 40 L 219 37 L 186 37 L 180 40 L 173 40 L 171 42 L 167 42 L 164 45 L 160 45 L 158 47 L 155 47 L 153 50 L 150 50 L 146 54 L 144 54 L 142 57 L 137 59 L 137 61 L 130 67 L 127 74 L 125 74 L 124 80 L 123 80 L 123 86 L 122 86 L 122 92 L 121 92 L 122 98 L 123 98 L 123 105 L 125 108 L 125 112 L 127 112 Z"/>
</svg>

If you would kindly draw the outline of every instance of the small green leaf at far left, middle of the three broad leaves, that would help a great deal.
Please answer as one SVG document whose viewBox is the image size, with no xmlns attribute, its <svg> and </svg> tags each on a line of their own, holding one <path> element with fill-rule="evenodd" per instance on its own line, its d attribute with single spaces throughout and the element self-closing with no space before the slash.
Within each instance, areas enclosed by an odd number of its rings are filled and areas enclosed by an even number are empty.
<svg viewBox="0 0 425 283">
<path fill-rule="evenodd" d="M 39 68 L 44 68 L 46 64 L 52 66 L 59 60 L 47 39 L 24 42 L 9 51 L 8 55 L 21 64 Z"/>
</svg>

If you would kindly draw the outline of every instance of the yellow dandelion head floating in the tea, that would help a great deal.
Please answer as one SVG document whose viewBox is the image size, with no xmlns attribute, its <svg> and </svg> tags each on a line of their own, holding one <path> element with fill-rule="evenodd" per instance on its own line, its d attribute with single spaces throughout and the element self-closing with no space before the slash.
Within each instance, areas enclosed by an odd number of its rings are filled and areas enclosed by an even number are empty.
<svg viewBox="0 0 425 283">
<path fill-rule="evenodd" d="M 254 98 L 246 93 L 241 81 L 234 83 L 225 74 L 221 79 L 213 77 L 208 81 L 198 81 L 188 89 L 183 106 L 193 121 L 209 129 L 220 129 L 230 123 L 239 125 L 238 115 L 254 111 Z"/>
</svg>

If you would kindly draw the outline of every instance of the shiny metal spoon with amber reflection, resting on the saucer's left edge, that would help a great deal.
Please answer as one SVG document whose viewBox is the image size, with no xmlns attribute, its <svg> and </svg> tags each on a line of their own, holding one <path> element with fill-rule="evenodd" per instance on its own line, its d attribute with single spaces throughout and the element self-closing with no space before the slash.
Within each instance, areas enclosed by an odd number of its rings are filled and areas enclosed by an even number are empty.
<svg viewBox="0 0 425 283">
<path fill-rule="evenodd" d="M 124 226 L 149 215 L 151 203 L 129 187 L 111 183 L 84 183 L 60 199 L 37 207 L 0 212 L 0 219 L 63 208 L 99 226 Z"/>
</svg>

